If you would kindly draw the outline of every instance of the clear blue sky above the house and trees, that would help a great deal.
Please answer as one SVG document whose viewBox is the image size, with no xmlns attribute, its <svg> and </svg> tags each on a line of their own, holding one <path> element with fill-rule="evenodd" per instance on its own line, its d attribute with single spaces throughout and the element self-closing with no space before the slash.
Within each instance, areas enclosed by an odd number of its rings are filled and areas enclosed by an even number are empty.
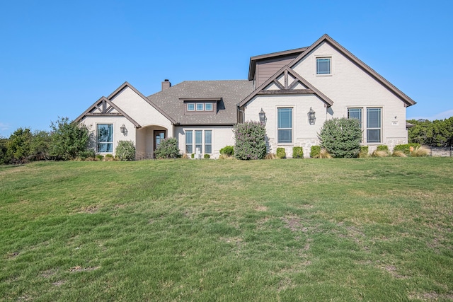
<svg viewBox="0 0 453 302">
<path fill-rule="evenodd" d="M 74 119 L 125 81 L 246 79 L 251 56 L 327 33 L 417 102 L 453 116 L 453 1 L 4 1 L 0 136 Z"/>
</svg>

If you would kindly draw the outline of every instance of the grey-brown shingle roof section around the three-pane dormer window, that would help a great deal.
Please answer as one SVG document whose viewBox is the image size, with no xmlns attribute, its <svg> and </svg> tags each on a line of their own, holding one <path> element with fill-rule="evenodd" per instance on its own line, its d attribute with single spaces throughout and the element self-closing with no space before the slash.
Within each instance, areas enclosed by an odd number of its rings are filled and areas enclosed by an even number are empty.
<svg viewBox="0 0 453 302">
<path fill-rule="evenodd" d="M 162 108 L 167 115 L 183 125 L 236 124 L 236 105 L 253 91 L 253 82 L 231 81 L 183 81 L 164 91 L 149 95 L 152 103 Z M 217 112 L 212 114 L 185 112 L 184 98 L 222 98 L 217 103 Z"/>
</svg>

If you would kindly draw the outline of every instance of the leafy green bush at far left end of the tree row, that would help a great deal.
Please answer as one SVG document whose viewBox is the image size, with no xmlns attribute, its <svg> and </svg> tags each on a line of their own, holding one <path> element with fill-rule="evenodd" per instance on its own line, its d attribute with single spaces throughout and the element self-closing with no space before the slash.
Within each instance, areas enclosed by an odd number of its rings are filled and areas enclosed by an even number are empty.
<svg viewBox="0 0 453 302">
<path fill-rule="evenodd" d="M 25 163 L 30 155 L 33 135 L 28 128 L 18 128 L 6 143 L 6 163 Z"/>
</svg>

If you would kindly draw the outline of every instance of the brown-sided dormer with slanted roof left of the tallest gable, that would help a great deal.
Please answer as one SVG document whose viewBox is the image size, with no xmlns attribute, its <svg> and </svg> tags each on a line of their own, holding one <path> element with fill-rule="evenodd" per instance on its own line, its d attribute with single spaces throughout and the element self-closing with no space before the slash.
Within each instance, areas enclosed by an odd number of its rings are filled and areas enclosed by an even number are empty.
<svg viewBox="0 0 453 302">
<path fill-rule="evenodd" d="M 299 54 L 302 54 L 308 47 L 283 52 L 261 54 L 250 58 L 248 67 L 248 81 L 255 81 L 255 88 L 267 81 L 275 72 L 283 66 L 292 62 Z"/>
</svg>

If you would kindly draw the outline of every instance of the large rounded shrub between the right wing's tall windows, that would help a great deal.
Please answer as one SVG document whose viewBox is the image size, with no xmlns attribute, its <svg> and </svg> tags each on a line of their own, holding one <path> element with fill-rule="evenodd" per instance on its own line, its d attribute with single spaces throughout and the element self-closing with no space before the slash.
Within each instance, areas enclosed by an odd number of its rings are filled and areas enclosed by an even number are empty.
<svg viewBox="0 0 453 302">
<path fill-rule="evenodd" d="M 333 118 L 324 122 L 318 134 L 321 148 L 333 157 L 354 158 L 360 152 L 362 130 L 357 119 Z"/>
</svg>

